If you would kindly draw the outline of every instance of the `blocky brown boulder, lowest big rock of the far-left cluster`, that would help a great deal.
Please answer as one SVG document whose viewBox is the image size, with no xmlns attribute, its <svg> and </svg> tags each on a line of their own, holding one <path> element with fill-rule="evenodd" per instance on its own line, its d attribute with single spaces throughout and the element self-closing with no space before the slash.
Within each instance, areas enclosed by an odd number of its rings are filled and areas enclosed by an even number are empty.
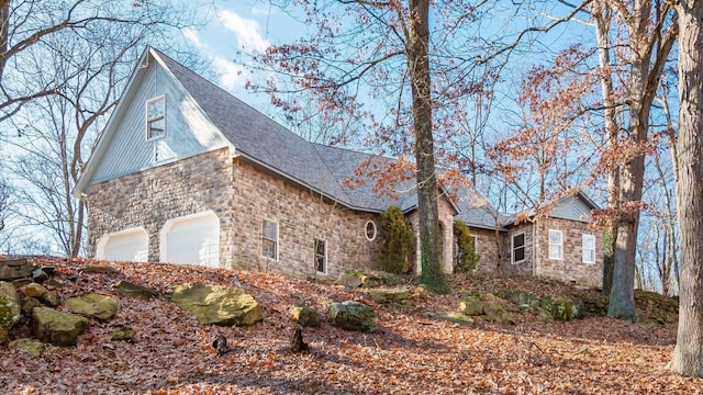
<svg viewBox="0 0 703 395">
<path fill-rule="evenodd" d="M 51 307 L 32 309 L 32 334 L 54 346 L 76 346 L 78 337 L 88 329 L 88 318 L 57 312 Z"/>
</svg>

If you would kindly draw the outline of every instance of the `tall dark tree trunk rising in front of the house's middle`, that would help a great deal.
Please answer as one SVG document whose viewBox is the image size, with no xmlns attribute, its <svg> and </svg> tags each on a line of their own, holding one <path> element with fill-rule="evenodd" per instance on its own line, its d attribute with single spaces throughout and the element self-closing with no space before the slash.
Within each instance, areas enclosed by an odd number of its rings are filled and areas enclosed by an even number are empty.
<svg viewBox="0 0 703 395">
<path fill-rule="evenodd" d="M 412 84 L 415 160 L 417 162 L 417 211 L 422 274 L 420 282 L 436 293 L 447 293 L 449 286 L 442 270 L 442 234 L 437 211 L 434 139 L 432 133 L 432 100 L 429 59 L 429 1 L 410 1 L 408 37 L 408 72 Z"/>
</svg>

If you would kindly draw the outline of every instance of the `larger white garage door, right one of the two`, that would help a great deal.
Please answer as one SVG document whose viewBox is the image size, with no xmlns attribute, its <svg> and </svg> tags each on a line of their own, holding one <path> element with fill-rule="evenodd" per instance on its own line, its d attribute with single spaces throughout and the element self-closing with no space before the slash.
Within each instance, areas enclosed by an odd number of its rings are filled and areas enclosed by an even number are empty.
<svg viewBox="0 0 703 395">
<path fill-rule="evenodd" d="M 220 218 L 212 211 L 174 218 L 161 229 L 161 261 L 220 266 Z"/>
</svg>

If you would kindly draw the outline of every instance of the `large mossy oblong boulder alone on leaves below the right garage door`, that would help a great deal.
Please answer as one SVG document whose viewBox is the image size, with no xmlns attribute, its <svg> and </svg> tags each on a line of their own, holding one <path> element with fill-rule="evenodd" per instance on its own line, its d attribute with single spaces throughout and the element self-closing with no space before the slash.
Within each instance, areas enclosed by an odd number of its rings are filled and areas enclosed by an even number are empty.
<svg viewBox="0 0 703 395">
<path fill-rule="evenodd" d="M 261 306 L 252 295 L 234 286 L 178 285 L 171 302 L 194 315 L 200 325 L 249 326 L 263 319 Z"/>
</svg>

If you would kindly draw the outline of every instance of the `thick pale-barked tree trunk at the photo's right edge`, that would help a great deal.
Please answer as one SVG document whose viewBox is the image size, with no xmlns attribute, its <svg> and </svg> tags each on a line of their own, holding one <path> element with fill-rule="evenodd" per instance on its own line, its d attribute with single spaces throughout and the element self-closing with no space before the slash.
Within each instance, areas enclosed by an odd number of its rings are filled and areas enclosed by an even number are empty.
<svg viewBox="0 0 703 395">
<path fill-rule="evenodd" d="M 703 376 L 703 2 L 680 2 L 679 183 L 681 237 L 679 332 L 671 370 Z"/>
</svg>

